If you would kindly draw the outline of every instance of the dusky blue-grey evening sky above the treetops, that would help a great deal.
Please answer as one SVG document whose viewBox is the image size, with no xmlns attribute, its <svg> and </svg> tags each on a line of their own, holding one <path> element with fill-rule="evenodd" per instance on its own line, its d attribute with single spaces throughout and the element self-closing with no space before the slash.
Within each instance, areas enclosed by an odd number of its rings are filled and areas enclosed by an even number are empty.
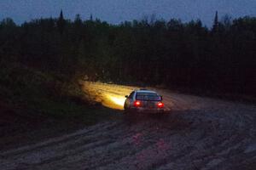
<svg viewBox="0 0 256 170">
<path fill-rule="evenodd" d="M 0 0 L 0 20 L 10 17 L 20 24 L 40 17 L 57 17 L 61 8 L 69 19 L 75 14 L 88 19 L 93 14 L 112 24 L 155 14 L 165 20 L 201 19 L 211 26 L 216 10 L 220 17 L 256 16 L 256 0 Z"/>
</svg>

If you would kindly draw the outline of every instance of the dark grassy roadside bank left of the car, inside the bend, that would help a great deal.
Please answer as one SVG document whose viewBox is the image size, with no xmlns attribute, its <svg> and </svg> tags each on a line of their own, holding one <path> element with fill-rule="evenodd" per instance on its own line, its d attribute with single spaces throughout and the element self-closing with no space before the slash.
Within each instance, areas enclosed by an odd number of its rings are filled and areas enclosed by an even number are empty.
<svg viewBox="0 0 256 170">
<path fill-rule="evenodd" d="M 72 133 L 118 115 L 92 105 L 70 77 L 0 59 L 0 150 Z"/>
</svg>

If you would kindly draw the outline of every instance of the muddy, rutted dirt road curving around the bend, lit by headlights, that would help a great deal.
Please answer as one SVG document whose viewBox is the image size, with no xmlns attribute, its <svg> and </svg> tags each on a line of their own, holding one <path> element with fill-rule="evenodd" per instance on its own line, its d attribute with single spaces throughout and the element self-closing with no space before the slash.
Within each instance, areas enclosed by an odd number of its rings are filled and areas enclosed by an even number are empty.
<svg viewBox="0 0 256 170">
<path fill-rule="evenodd" d="M 120 110 L 134 88 L 84 82 L 91 99 Z M 255 105 L 157 91 L 166 116 L 124 116 L 1 150 L 0 169 L 256 169 Z"/>
</svg>

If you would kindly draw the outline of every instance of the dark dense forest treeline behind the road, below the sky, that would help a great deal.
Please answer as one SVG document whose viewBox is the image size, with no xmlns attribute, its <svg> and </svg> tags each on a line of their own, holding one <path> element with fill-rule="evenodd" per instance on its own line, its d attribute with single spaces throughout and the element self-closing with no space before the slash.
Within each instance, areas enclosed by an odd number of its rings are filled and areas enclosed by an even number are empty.
<svg viewBox="0 0 256 170">
<path fill-rule="evenodd" d="M 0 23 L 0 57 L 91 81 L 143 82 L 256 96 L 256 18 L 201 20 L 40 19 Z"/>
</svg>

